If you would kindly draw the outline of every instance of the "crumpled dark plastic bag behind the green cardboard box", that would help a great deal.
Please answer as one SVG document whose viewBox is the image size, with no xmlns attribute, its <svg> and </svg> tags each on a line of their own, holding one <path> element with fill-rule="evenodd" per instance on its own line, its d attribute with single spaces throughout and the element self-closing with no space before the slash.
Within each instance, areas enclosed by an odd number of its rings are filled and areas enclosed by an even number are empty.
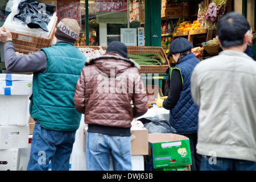
<svg viewBox="0 0 256 182">
<path fill-rule="evenodd" d="M 148 133 L 176 133 L 177 131 L 165 119 L 145 117 L 138 119 L 148 129 Z"/>
</svg>

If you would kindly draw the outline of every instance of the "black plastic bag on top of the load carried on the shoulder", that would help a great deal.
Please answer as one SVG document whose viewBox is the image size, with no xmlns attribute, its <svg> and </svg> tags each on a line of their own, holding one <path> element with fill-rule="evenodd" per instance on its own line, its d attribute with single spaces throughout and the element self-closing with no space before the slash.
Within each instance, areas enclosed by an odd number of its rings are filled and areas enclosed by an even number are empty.
<svg viewBox="0 0 256 182">
<path fill-rule="evenodd" d="M 47 25 L 51 20 L 56 7 L 35 0 L 24 0 L 19 3 L 18 14 L 14 15 L 14 21 L 21 22 L 30 28 L 42 28 L 49 32 Z M 45 5 L 45 6 L 41 6 Z"/>
</svg>

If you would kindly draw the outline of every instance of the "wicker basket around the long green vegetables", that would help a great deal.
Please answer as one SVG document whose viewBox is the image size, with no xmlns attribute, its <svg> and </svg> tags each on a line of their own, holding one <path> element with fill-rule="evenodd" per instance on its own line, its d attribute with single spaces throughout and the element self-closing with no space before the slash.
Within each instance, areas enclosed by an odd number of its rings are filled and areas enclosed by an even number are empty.
<svg viewBox="0 0 256 182">
<path fill-rule="evenodd" d="M 167 69 L 169 68 L 169 61 L 166 57 L 166 53 L 164 53 L 164 50 L 162 47 L 127 47 L 127 52 L 130 55 L 133 55 L 134 53 L 154 53 L 161 55 L 165 60 L 166 63 L 164 65 L 140 65 L 141 69 L 139 73 L 158 73 L 158 74 L 164 74 L 166 73 Z"/>
</svg>

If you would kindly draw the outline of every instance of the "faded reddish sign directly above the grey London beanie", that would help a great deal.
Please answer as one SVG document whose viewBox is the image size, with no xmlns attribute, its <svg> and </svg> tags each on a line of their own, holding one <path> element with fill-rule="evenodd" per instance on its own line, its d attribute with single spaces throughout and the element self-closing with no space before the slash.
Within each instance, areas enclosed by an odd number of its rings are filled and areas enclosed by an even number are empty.
<svg viewBox="0 0 256 182">
<path fill-rule="evenodd" d="M 81 30 L 81 9 L 80 0 L 57 0 L 58 23 L 63 18 L 76 19 Z"/>
</svg>

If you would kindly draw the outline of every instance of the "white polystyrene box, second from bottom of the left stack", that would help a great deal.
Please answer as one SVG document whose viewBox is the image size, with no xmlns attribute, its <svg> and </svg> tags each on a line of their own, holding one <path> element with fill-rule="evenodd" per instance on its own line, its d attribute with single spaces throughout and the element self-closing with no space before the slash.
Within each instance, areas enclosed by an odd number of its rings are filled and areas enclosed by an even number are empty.
<svg viewBox="0 0 256 182">
<path fill-rule="evenodd" d="M 30 127 L 0 126 L 0 150 L 9 148 L 27 148 Z"/>
</svg>

